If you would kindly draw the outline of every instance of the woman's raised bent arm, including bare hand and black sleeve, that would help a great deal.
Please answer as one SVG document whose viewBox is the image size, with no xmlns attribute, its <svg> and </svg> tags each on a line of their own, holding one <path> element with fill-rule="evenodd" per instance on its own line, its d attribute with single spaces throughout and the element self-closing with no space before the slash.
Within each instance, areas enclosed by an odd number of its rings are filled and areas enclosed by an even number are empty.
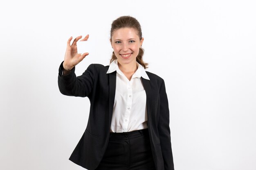
<svg viewBox="0 0 256 170">
<path fill-rule="evenodd" d="M 81 41 L 87 41 L 89 35 L 86 35 Z M 89 65 L 88 69 L 76 77 L 75 65 L 80 63 L 89 53 L 78 54 L 76 42 L 82 36 L 76 37 L 70 45 L 72 37 L 67 41 L 67 50 L 65 52 L 64 61 L 61 63 L 58 74 L 58 87 L 62 94 L 67 96 L 85 97 L 90 94 L 94 78 L 94 65 Z"/>
</svg>

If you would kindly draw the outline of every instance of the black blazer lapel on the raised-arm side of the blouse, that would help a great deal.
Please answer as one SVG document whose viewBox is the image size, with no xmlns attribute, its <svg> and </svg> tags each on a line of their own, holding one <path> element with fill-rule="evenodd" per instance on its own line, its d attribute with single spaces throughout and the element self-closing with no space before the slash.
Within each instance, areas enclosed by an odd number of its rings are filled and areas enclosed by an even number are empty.
<svg viewBox="0 0 256 170">
<path fill-rule="evenodd" d="M 117 72 L 109 73 L 109 125 L 112 120 L 113 107 L 115 102 Z"/>
</svg>

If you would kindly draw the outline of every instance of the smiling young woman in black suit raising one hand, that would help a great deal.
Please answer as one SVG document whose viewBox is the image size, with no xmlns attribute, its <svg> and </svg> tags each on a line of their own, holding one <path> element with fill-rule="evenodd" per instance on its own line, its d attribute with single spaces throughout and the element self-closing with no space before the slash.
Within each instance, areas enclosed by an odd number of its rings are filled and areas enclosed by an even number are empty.
<svg viewBox="0 0 256 170">
<path fill-rule="evenodd" d="M 87 127 L 70 160 L 88 170 L 174 170 L 164 80 L 146 72 L 144 38 L 130 16 L 113 21 L 110 65 L 91 64 L 76 77 L 76 37 L 59 68 L 62 94 L 90 99 Z M 80 41 L 87 41 L 89 35 Z"/>
</svg>

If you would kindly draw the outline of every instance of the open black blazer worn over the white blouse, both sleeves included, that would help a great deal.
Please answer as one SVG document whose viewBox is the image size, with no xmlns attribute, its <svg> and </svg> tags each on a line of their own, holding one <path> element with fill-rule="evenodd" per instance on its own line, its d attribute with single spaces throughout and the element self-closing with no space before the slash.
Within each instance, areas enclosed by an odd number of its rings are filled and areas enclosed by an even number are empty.
<svg viewBox="0 0 256 170">
<path fill-rule="evenodd" d="M 76 77 L 75 68 L 63 76 L 63 63 L 59 68 L 58 87 L 67 96 L 88 97 L 90 115 L 87 127 L 70 160 L 94 170 L 99 165 L 108 145 L 110 124 L 115 99 L 116 72 L 106 74 L 109 66 L 91 64 Z M 164 80 L 146 72 L 150 80 L 142 79 L 146 91 L 148 131 L 157 170 L 174 170 L 169 127 L 169 108 Z"/>
</svg>

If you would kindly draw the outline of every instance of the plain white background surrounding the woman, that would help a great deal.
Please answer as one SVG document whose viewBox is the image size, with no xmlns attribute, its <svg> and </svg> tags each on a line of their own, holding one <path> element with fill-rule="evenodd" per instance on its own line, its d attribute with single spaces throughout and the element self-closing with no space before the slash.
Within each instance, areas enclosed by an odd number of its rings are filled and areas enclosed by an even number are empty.
<svg viewBox="0 0 256 170">
<path fill-rule="evenodd" d="M 162 78 L 175 170 L 256 169 L 254 0 L 9 0 L 0 5 L 0 169 L 83 170 L 68 160 L 88 98 L 62 95 L 70 36 L 90 35 L 77 67 L 108 65 L 110 25 L 141 23 L 148 71 Z M 88 41 L 88 42 L 89 42 Z"/>
</svg>

